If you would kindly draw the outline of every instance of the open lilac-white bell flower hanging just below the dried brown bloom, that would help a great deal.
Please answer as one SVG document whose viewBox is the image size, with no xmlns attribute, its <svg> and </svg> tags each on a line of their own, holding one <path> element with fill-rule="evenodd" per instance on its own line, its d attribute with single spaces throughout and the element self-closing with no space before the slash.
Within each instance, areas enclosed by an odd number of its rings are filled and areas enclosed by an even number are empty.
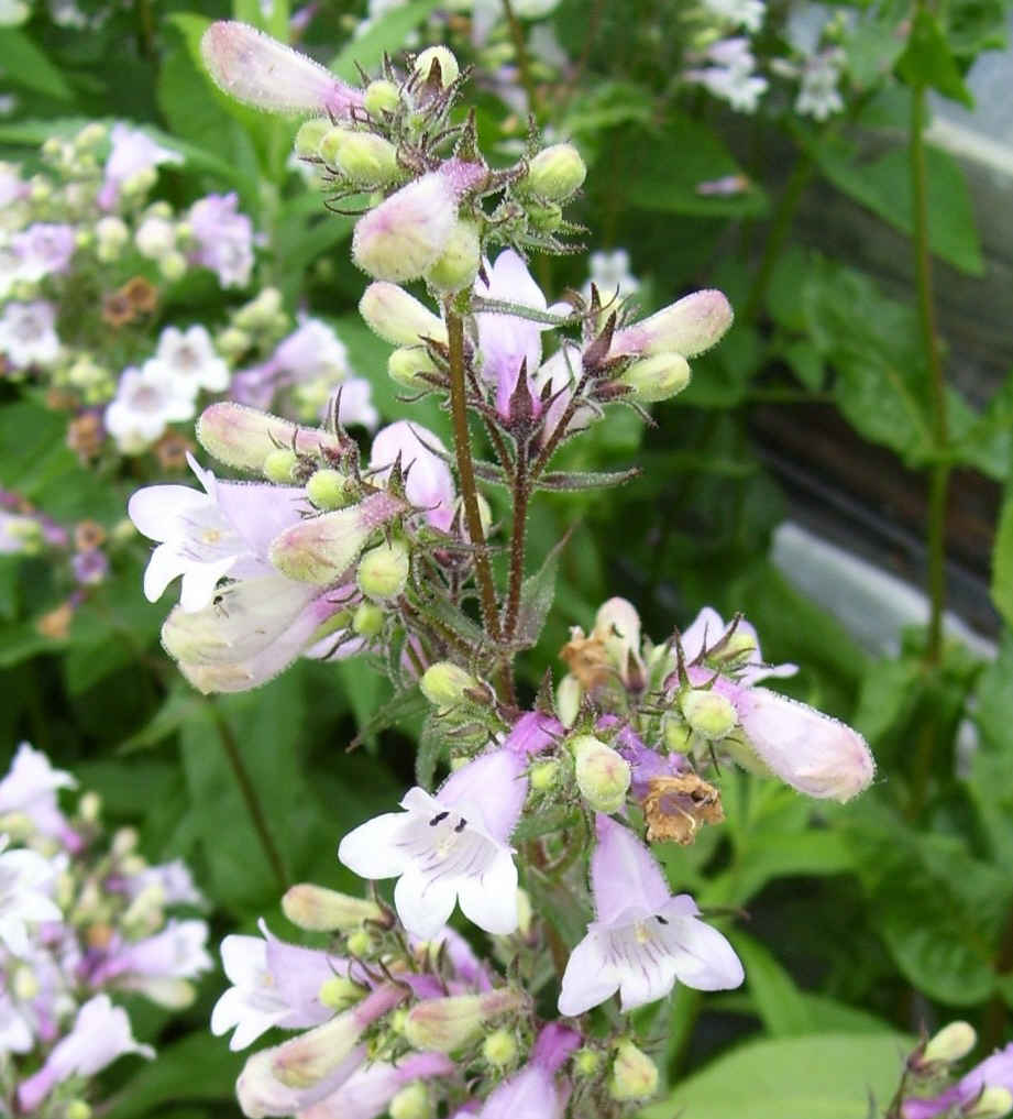
<svg viewBox="0 0 1013 1119">
<path fill-rule="evenodd" d="M 624 1012 L 664 998 L 678 979 L 697 990 L 741 984 L 742 965 L 689 894 L 672 896 L 629 828 L 600 812 L 591 856 L 595 920 L 562 977 L 559 1012 L 583 1014 L 618 990 Z"/>
</svg>

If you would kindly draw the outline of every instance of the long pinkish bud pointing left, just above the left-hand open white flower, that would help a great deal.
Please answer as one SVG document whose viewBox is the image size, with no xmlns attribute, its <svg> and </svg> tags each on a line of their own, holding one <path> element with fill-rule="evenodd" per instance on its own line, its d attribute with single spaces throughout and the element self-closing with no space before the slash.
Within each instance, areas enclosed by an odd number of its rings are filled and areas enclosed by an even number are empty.
<svg viewBox="0 0 1013 1119">
<path fill-rule="evenodd" d="M 201 445 L 220 462 L 238 470 L 259 473 L 267 457 L 280 446 L 297 454 L 321 451 L 338 453 L 337 435 L 319 427 L 297 427 L 288 420 L 258 412 L 245 404 L 223 401 L 203 410 L 197 421 L 197 438 Z"/>
</svg>

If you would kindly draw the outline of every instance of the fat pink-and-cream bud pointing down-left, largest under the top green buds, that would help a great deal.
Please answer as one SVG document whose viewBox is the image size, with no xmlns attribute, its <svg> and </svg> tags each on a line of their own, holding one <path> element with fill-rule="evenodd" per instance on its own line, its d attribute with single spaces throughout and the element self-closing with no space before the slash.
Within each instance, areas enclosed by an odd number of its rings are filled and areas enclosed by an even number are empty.
<svg viewBox="0 0 1013 1119">
<path fill-rule="evenodd" d="M 443 253 L 456 219 L 451 184 L 430 171 L 359 219 L 352 258 L 377 280 L 417 280 Z"/>
</svg>

